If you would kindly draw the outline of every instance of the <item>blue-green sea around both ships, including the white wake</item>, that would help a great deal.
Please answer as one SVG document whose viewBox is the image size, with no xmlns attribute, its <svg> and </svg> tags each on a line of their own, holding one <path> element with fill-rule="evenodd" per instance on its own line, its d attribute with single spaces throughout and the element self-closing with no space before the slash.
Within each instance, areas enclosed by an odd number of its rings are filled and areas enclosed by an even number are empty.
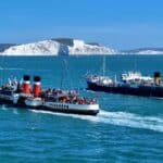
<svg viewBox="0 0 163 163">
<path fill-rule="evenodd" d="M 86 74 L 102 74 L 103 55 L 1 57 L 0 84 L 24 74 L 41 88 L 96 98 L 97 116 L 0 105 L 0 163 L 162 163 L 163 100 L 88 91 Z M 163 76 L 163 55 L 108 55 L 105 75 L 128 71 Z"/>
</svg>

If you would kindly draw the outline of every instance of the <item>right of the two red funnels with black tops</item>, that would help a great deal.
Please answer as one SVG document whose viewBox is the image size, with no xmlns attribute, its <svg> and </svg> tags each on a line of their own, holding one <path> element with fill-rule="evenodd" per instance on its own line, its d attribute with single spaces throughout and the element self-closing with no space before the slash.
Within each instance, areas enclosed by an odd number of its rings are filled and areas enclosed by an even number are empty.
<svg viewBox="0 0 163 163">
<path fill-rule="evenodd" d="M 39 76 L 34 77 L 33 93 L 35 98 L 38 98 L 40 95 L 40 77 Z"/>
</svg>

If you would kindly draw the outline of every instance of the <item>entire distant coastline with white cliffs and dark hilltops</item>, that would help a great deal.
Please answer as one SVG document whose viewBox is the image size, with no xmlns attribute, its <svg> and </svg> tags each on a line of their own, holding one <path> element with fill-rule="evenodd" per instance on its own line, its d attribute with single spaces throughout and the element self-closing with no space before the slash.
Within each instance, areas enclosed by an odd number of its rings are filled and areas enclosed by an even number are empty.
<svg viewBox="0 0 163 163">
<path fill-rule="evenodd" d="M 80 39 L 55 38 L 29 43 L 0 43 L 1 55 L 155 55 L 163 54 L 163 48 L 139 48 L 134 50 L 116 50 L 98 42 L 86 42 Z"/>
</svg>

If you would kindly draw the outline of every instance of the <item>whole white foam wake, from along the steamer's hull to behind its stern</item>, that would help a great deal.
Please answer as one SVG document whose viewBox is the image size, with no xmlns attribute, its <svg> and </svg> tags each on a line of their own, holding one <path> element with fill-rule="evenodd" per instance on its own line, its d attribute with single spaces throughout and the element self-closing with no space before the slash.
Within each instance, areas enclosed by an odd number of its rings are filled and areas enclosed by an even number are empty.
<svg viewBox="0 0 163 163">
<path fill-rule="evenodd" d="M 97 116 L 89 115 L 75 115 L 75 114 L 64 114 L 64 113 L 52 113 L 47 111 L 34 111 L 35 113 L 48 113 L 59 116 L 70 116 L 74 118 L 90 121 L 93 123 L 104 123 L 117 126 L 126 126 L 133 128 L 150 129 L 163 133 L 163 118 L 156 116 L 141 116 L 138 114 L 127 113 L 127 112 L 108 112 L 100 111 Z"/>
</svg>

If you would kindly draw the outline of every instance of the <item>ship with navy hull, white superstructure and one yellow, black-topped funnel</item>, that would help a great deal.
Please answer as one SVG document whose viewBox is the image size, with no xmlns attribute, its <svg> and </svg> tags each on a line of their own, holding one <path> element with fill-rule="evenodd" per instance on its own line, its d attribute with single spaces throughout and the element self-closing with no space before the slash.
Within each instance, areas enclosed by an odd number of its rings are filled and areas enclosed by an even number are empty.
<svg viewBox="0 0 163 163">
<path fill-rule="evenodd" d="M 161 73 L 154 72 L 153 77 L 142 76 L 138 72 L 127 72 L 121 75 L 121 79 L 112 79 L 109 76 L 87 75 L 87 89 L 110 93 L 121 93 L 140 97 L 163 98 L 163 84 Z"/>
</svg>

